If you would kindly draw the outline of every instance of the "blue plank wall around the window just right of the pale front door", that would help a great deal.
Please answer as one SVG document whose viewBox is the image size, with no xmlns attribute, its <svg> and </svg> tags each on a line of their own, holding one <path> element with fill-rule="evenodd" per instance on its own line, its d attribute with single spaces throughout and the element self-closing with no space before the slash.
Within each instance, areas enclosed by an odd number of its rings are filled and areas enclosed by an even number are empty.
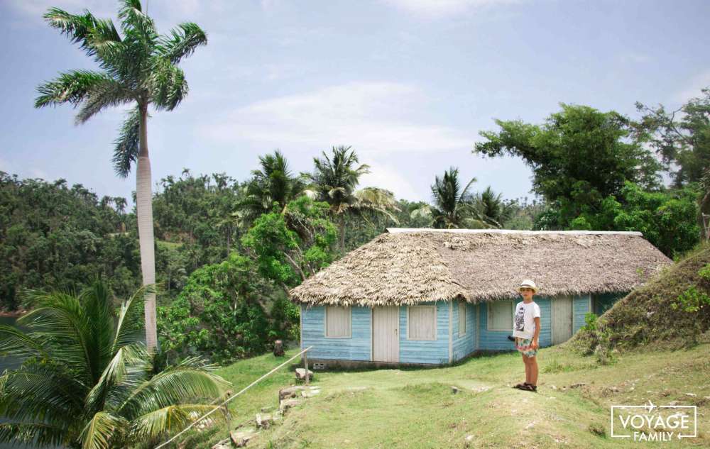
<svg viewBox="0 0 710 449">
<path fill-rule="evenodd" d="M 424 302 L 421 305 L 432 305 Z M 449 362 L 449 303 L 437 301 L 437 340 L 407 340 L 407 306 L 400 307 L 400 362 Z"/>
</svg>

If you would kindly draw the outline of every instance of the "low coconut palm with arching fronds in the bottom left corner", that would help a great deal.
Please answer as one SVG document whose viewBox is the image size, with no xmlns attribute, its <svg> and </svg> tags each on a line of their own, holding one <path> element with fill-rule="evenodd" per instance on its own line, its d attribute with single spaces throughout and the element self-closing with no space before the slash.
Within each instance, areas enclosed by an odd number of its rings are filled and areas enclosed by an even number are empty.
<svg viewBox="0 0 710 449">
<path fill-rule="evenodd" d="M 226 382 L 202 360 L 155 370 L 142 343 L 143 287 L 118 313 L 102 282 L 79 295 L 33 294 L 21 331 L 0 326 L 0 441 L 67 448 L 155 443 L 214 409 Z M 191 402 L 188 402 L 191 401 Z"/>
</svg>

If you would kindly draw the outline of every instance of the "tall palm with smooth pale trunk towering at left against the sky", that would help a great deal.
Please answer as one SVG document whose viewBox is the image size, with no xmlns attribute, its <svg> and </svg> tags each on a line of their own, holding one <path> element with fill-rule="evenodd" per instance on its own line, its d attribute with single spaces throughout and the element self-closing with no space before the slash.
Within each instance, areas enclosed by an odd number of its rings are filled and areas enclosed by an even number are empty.
<svg viewBox="0 0 710 449">
<path fill-rule="evenodd" d="M 114 168 L 128 176 L 136 162 L 136 207 L 141 244 L 143 285 L 155 283 L 151 162 L 148 157 L 148 106 L 172 111 L 187 95 L 185 73 L 178 63 L 207 43 L 195 23 L 181 23 L 167 35 L 158 35 L 153 19 L 143 13 L 140 0 L 121 0 L 121 33 L 109 19 L 89 11 L 70 14 L 51 8 L 44 18 L 52 28 L 78 43 L 100 70 L 72 70 L 38 87 L 35 107 L 70 103 L 80 106 L 76 122 L 84 123 L 111 106 L 130 104 L 115 141 Z M 158 344 L 155 328 L 155 295 L 146 300 L 146 344 Z"/>
</svg>

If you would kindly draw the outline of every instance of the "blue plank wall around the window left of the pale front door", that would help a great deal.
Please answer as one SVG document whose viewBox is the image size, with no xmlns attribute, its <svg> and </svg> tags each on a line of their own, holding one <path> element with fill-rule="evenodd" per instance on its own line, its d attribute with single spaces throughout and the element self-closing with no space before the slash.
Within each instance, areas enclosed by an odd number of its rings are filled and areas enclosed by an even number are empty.
<svg viewBox="0 0 710 449">
<path fill-rule="evenodd" d="M 313 346 L 308 356 L 329 360 L 371 360 L 372 309 L 351 308 L 351 338 L 325 337 L 325 307 L 301 306 L 301 347 Z"/>
</svg>

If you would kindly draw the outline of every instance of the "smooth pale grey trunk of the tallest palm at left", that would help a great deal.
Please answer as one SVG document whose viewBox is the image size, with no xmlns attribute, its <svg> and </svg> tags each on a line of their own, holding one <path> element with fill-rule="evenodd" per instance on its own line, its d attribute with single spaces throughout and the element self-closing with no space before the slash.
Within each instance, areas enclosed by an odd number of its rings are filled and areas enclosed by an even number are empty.
<svg viewBox="0 0 710 449">
<path fill-rule="evenodd" d="M 155 284 L 155 239 L 153 237 L 153 192 L 151 189 L 151 160 L 148 157 L 148 105 L 141 106 L 140 149 L 136 167 L 136 208 L 138 211 L 138 242 L 141 245 L 143 285 Z M 155 293 L 146 296 L 146 347 L 158 346 L 155 325 Z"/>
</svg>

